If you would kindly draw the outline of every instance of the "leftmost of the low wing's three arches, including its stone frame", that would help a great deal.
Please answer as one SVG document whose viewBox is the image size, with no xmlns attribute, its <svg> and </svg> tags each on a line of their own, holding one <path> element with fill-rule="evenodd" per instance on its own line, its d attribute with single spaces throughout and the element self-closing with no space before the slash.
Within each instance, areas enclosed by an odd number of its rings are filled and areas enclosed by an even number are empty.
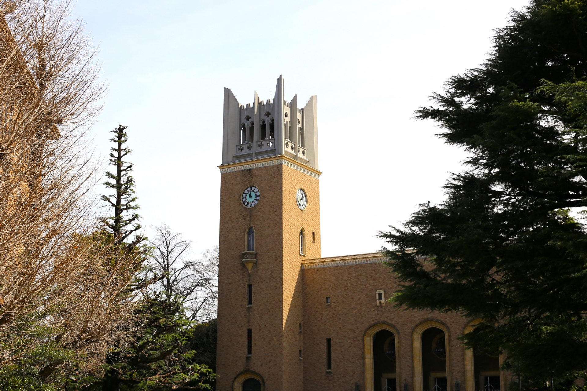
<svg viewBox="0 0 587 391">
<path fill-rule="evenodd" d="M 387 322 L 365 332 L 365 391 L 397 391 L 400 384 L 399 334 Z"/>
</svg>

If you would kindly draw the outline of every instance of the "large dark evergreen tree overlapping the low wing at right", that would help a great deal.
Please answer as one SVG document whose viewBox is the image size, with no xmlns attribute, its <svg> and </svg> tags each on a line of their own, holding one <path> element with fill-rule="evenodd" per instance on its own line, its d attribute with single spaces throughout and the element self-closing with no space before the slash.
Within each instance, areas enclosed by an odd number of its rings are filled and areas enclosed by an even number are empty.
<svg viewBox="0 0 587 391">
<path fill-rule="evenodd" d="M 507 352 L 537 389 L 587 368 L 587 234 L 569 213 L 587 203 L 586 45 L 586 0 L 512 12 L 489 59 L 417 111 L 470 152 L 465 171 L 380 232 L 396 304 L 482 318 L 465 344 Z"/>
</svg>

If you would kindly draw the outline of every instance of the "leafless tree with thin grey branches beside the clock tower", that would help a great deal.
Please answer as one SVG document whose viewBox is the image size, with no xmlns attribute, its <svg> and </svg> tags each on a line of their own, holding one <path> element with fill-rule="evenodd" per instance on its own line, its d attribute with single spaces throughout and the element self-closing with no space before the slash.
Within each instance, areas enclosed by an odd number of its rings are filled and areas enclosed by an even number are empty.
<svg viewBox="0 0 587 391">
<path fill-rule="evenodd" d="M 150 270 L 165 277 L 150 286 L 168 299 L 177 298 L 186 315 L 194 321 L 215 318 L 218 286 L 218 247 L 203 253 L 203 259 L 189 259 L 190 242 L 172 233 L 166 225 L 156 228 Z"/>
</svg>

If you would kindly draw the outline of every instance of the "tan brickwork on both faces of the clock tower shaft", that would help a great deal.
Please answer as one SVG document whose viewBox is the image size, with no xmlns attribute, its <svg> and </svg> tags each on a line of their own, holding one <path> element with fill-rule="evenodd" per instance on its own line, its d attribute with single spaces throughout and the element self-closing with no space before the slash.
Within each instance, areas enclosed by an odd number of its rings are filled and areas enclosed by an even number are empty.
<svg viewBox="0 0 587 391">
<path fill-rule="evenodd" d="M 242 191 L 255 185 L 261 192 L 254 208 L 241 203 Z M 299 210 L 295 194 L 308 195 Z M 249 274 L 242 265 L 246 230 L 255 228 L 257 264 Z M 299 254 L 299 230 L 306 230 L 306 254 Z M 316 241 L 312 242 L 312 232 Z M 232 389 L 243 370 L 258 372 L 266 390 L 302 390 L 302 277 L 306 257 L 320 257 L 318 179 L 286 165 L 271 165 L 221 174 L 220 274 L 218 281 L 217 387 Z M 247 307 L 247 284 L 253 305 Z M 247 328 L 252 329 L 252 356 L 247 353 Z"/>
</svg>

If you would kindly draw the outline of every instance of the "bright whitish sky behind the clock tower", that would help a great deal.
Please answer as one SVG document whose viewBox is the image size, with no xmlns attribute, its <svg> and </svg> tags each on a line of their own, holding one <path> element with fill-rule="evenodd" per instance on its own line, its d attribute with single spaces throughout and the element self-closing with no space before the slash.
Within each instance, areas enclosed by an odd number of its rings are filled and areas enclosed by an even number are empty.
<svg viewBox="0 0 587 391">
<path fill-rule="evenodd" d="M 493 29 L 527 0 L 77 0 L 99 48 L 104 109 L 92 129 L 105 156 L 129 126 L 141 223 L 218 243 L 222 88 L 241 103 L 318 95 L 322 256 L 367 253 L 465 158 L 413 112 L 453 74 L 476 67 Z M 98 189 L 102 192 L 102 189 Z"/>
</svg>

